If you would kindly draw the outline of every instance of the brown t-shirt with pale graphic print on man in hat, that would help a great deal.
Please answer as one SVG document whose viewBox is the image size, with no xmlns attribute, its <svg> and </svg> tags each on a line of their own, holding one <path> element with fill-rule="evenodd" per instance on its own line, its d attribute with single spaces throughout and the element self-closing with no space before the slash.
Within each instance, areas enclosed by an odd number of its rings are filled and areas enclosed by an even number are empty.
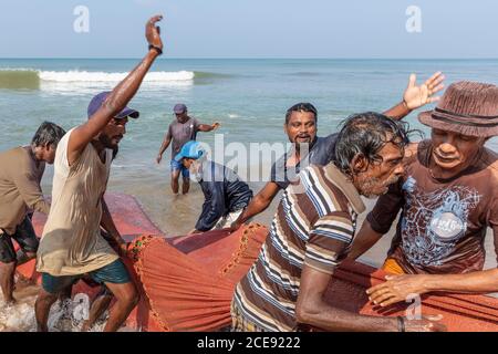
<svg viewBox="0 0 498 354">
<path fill-rule="evenodd" d="M 373 230 L 386 233 L 402 214 L 388 257 L 407 273 L 481 270 L 487 227 L 498 253 L 498 155 L 483 148 L 475 163 L 450 179 L 436 179 L 428 165 L 429 140 L 407 154 L 406 174 L 369 214 Z"/>
</svg>

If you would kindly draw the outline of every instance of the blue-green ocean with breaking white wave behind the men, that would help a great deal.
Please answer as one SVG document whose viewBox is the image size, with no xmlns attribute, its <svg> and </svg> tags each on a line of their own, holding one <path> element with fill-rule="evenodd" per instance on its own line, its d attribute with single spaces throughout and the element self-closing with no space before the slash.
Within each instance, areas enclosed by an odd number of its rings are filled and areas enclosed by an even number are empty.
<svg viewBox="0 0 498 354">
<path fill-rule="evenodd" d="M 137 63 L 136 59 L 0 59 L 0 150 L 29 144 L 43 121 L 66 129 L 81 124 L 92 96 L 112 90 Z M 336 132 L 352 113 L 382 112 L 401 102 L 412 72 L 422 82 L 436 71 L 444 72 L 446 85 L 460 80 L 498 84 L 498 60 L 162 58 L 129 103 L 141 117 L 127 125 L 108 190 L 134 195 L 167 236 L 184 235 L 194 228 L 200 212 L 200 188 L 193 185 L 189 195 L 173 196 L 170 148 L 160 165 L 155 162 L 176 103 L 185 103 L 189 114 L 201 123 L 221 124 L 218 135 L 199 133 L 198 140 L 214 146 L 222 138 L 225 146 L 239 143 L 249 150 L 253 143 L 287 143 L 284 114 L 294 103 L 317 106 L 319 135 L 324 136 Z M 427 134 L 416 113 L 406 121 Z M 490 140 L 488 146 L 498 150 L 498 140 Z M 261 177 L 250 180 L 255 191 L 268 179 L 271 162 L 263 158 L 259 165 Z M 48 167 L 42 181 L 46 194 L 51 192 L 52 174 L 52 167 Z M 257 220 L 268 225 L 276 205 Z M 492 253 L 489 239 L 487 249 Z M 378 266 L 384 259 L 384 243 L 369 260 L 372 264 Z M 489 258 L 488 266 L 492 262 Z"/>
</svg>

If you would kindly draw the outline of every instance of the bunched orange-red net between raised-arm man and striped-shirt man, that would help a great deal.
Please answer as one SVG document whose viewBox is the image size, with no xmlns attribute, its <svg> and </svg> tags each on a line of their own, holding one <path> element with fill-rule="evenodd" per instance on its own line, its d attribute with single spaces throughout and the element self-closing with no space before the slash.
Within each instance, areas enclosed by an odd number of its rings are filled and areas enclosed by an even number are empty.
<svg viewBox="0 0 498 354">
<path fill-rule="evenodd" d="M 235 285 L 255 262 L 267 232 L 250 225 L 231 235 L 136 239 L 129 254 L 159 327 L 214 331 L 230 325 Z"/>
</svg>

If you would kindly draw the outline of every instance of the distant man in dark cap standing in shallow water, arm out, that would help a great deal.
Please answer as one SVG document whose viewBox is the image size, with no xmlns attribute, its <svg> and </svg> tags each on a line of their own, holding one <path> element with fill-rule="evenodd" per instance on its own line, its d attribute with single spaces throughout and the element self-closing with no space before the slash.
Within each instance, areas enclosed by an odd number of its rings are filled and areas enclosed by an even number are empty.
<svg viewBox="0 0 498 354">
<path fill-rule="evenodd" d="M 173 107 L 173 112 L 176 116 L 176 121 L 169 124 L 168 131 L 164 137 L 163 144 L 159 148 L 159 154 L 156 157 L 157 164 L 163 159 L 164 152 L 172 145 L 172 189 L 175 195 L 178 194 L 178 179 L 181 173 L 183 185 L 181 194 L 186 195 L 190 188 L 190 181 L 188 178 L 188 169 L 186 169 L 181 164 L 177 163 L 173 157 L 177 155 L 181 146 L 189 140 L 195 140 L 197 132 L 211 132 L 219 127 L 219 123 L 214 123 L 211 125 L 201 124 L 194 117 L 190 117 L 187 112 L 187 106 L 183 103 L 178 103 Z"/>
</svg>

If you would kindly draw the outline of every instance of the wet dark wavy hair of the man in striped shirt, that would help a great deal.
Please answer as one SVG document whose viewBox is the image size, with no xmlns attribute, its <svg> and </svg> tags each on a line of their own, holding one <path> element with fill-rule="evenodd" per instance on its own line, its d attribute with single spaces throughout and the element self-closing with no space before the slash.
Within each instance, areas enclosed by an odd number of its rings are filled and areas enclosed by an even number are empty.
<svg viewBox="0 0 498 354">
<path fill-rule="evenodd" d="M 333 162 L 339 169 L 351 176 L 350 165 L 357 154 L 365 156 L 369 164 L 381 163 L 382 156 L 378 152 L 387 143 L 404 150 L 409 144 L 409 135 L 414 132 L 417 131 L 409 131 L 407 123 L 393 121 L 380 113 L 353 114 L 342 123 Z"/>
</svg>

